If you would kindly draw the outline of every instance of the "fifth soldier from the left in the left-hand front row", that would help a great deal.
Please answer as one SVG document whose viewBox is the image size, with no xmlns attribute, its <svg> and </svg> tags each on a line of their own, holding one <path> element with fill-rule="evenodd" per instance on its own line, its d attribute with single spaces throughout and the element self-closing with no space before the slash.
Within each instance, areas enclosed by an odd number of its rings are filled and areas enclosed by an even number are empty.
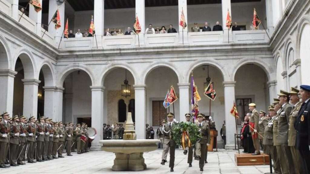
<svg viewBox="0 0 310 174">
<path fill-rule="evenodd" d="M 42 162 L 42 153 L 44 150 L 44 141 L 45 141 L 45 136 L 44 136 L 44 117 L 40 117 L 40 124 L 37 125 L 37 131 L 36 131 L 36 136 L 37 136 L 37 162 Z"/>
</svg>

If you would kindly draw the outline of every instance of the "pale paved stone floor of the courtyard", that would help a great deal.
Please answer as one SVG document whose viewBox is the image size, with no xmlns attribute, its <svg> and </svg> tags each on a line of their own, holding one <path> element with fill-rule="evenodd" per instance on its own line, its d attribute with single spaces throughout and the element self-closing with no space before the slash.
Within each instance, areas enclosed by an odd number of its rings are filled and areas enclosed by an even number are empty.
<svg viewBox="0 0 310 174">
<path fill-rule="evenodd" d="M 193 161 L 193 167 L 188 167 L 187 155 L 183 154 L 183 150 L 175 151 L 175 172 L 170 172 L 169 162 L 161 165 L 162 150 L 144 153 L 147 169 L 140 172 L 113 172 L 111 170 L 115 155 L 104 151 L 91 151 L 84 154 L 72 153 L 73 156 L 65 156 L 50 160 L 47 162 L 27 163 L 19 167 L 10 167 L 1 169 L 0 173 L 12 174 L 118 174 L 118 173 L 143 173 L 143 174 L 262 174 L 269 172 L 269 166 L 236 166 L 234 154 L 236 150 L 219 149 L 218 152 L 208 153 L 208 163 L 204 167 L 204 171 L 199 171 L 198 161 Z M 169 160 L 169 154 L 168 154 Z"/>
</svg>

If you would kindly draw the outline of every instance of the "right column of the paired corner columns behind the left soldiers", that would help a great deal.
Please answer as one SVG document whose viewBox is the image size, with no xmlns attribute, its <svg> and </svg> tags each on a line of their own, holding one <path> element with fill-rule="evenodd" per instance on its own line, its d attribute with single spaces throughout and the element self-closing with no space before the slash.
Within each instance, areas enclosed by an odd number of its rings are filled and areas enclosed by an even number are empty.
<svg viewBox="0 0 310 174">
<path fill-rule="evenodd" d="M 57 86 L 54 94 L 54 121 L 62 121 L 62 99 L 63 99 L 64 88 Z"/>
</svg>

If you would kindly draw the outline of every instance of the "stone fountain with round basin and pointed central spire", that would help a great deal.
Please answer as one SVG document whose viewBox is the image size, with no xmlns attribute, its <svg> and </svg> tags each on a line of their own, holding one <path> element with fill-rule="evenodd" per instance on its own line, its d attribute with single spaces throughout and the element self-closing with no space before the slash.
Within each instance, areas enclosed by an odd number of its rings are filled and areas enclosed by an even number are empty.
<svg viewBox="0 0 310 174">
<path fill-rule="evenodd" d="M 131 112 L 127 115 L 124 140 L 100 140 L 101 149 L 115 154 L 113 171 L 142 171 L 146 169 L 143 153 L 156 150 L 160 140 L 136 140 Z"/>
</svg>

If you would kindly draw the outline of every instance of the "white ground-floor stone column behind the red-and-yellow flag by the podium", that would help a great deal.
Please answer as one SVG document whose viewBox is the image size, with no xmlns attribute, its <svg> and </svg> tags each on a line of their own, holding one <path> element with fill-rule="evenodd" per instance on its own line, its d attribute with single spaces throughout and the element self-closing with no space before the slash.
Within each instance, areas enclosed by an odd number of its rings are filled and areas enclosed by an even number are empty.
<svg viewBox="0 0 310 174">
<path fill-rule="evenodd" d="M 226 121 L 226 146 L 225 149 L 235 147 L 234 134 L 236 133 L 236 120 L 230 114 L 230 110 L 235 101 L 235 84 L 236 81 L 224 81 L 224 98 L 225 98 L 225 121 Z"/>
</svg>

